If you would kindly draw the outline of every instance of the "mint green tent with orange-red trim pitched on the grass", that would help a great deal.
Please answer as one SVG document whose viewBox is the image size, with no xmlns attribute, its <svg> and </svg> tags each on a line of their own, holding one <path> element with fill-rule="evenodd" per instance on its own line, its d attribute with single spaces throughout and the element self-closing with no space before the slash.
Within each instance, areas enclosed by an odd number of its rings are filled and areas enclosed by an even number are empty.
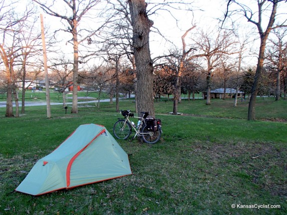
<svg viewBox="0 0 287 215">
<path fill-rule="evenodd" d="M 34 165 L 15 191 L 36 196 L 130 174 L 128 155 L 105 127 L 80 125 Z"/>
</svg>

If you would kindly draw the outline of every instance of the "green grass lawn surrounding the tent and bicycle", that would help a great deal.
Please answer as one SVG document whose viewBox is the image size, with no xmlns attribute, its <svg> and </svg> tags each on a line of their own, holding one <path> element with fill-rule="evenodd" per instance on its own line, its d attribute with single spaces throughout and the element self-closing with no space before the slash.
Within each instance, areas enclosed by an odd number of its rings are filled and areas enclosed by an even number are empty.
<svg viewBox="0 0 287 215">
<path fill-rule="evenodd" d="M 287 214 L 287 101 L 258 98 L 257 121 L 246 120 L 248 101 L 183 101 L 178 116 L 167 114 L 172 105 L 155 103 L 158 143 L 118 140 L 133 175 L 39 197 L 13 192 L 38 159 L 81 124 L 112 134 L 121 116 L 109 103 L 78 114 L 52 106 L 51 119 L 45 106 L 26 107 L 19 118 L 0 108 L 0 215 Z M 120 101 L 120 109 L 134 111 L 134 103 Z"/>
</svg>

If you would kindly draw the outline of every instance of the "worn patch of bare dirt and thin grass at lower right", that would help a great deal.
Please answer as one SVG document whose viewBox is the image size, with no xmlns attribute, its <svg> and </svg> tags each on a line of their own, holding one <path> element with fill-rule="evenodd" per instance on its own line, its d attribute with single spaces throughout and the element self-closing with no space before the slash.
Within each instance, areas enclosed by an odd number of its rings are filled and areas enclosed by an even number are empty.
<svg viewBox="0 0 287 215">
<path fill-rule="evenodd" d="M 220 168 L 242 172 L 272 195 L 287 196 L 286 148 L 273 143 L 237 142 L 202 148 Z"/>
</svg>

